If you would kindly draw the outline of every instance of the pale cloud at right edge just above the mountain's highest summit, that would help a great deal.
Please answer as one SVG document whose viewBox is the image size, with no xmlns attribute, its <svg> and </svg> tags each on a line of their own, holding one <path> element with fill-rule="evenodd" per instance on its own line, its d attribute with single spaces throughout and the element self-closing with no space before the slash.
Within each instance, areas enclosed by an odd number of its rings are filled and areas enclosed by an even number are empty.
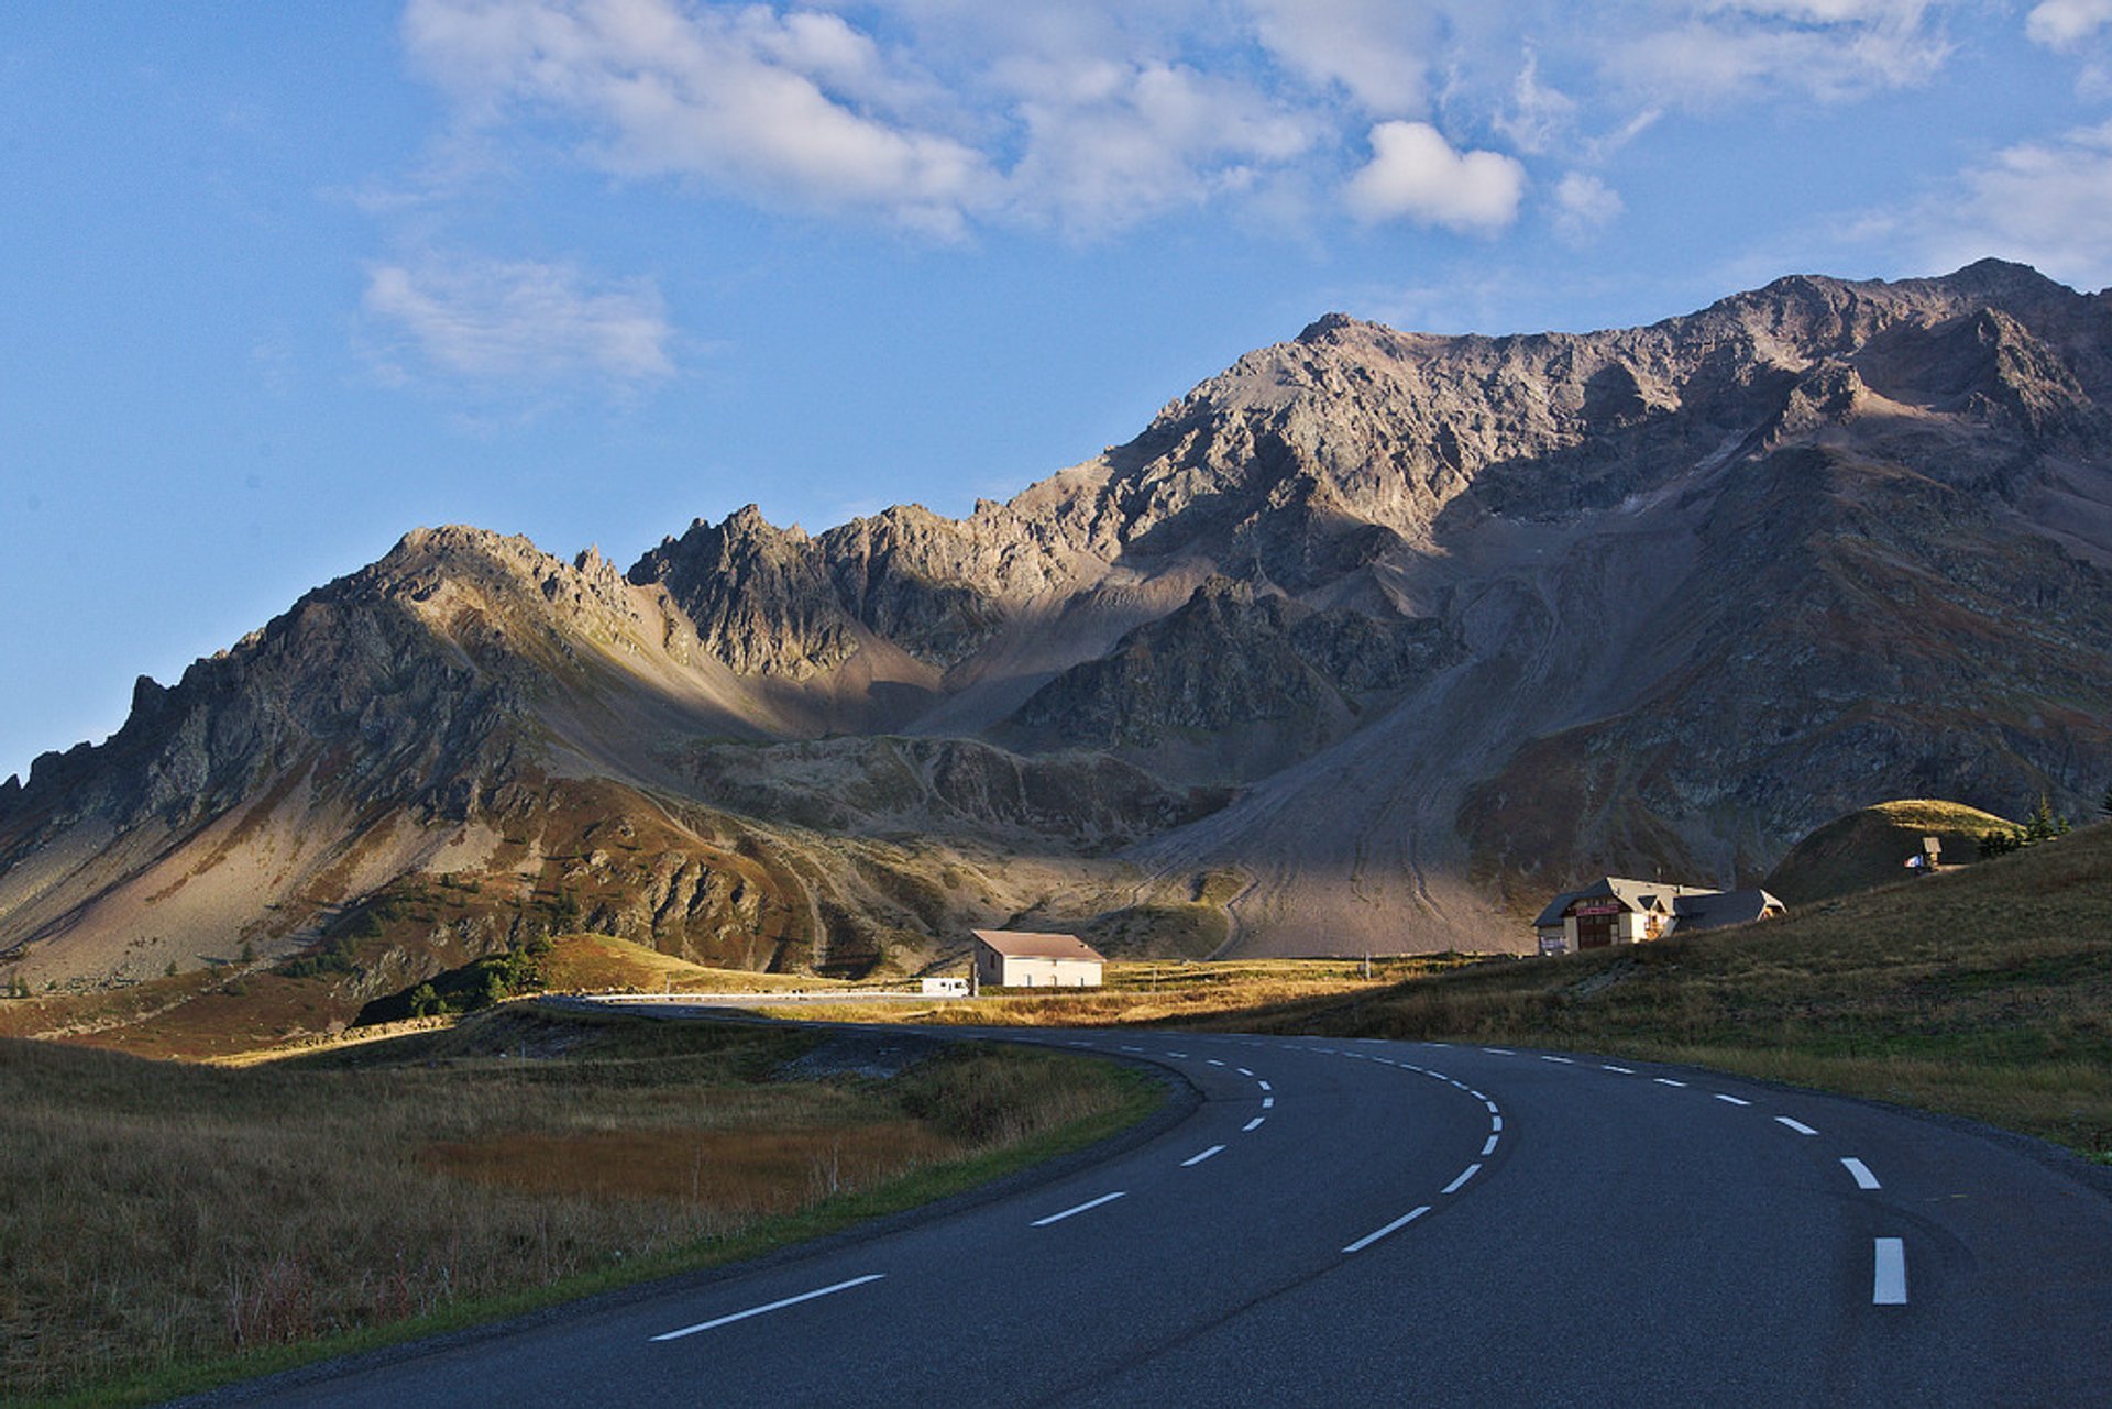
<svg viewBox="0 0 2112 1409">
<path fill-rule="evenodd" d="M 2112 283 L 2112 123 L 2004 148 L 1913 224 L 1943 268 L 1992 253 L 2078 287 Z"/>
</svg>

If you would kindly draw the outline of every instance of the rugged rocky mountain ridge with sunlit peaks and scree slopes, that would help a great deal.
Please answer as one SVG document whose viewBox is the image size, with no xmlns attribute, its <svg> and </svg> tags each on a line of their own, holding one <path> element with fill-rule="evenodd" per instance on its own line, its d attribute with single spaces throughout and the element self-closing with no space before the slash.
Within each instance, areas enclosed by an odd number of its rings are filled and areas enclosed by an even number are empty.
<svg viewBox="0 0 2112 1409">
<path fill-rule="evenodd" d="M 1873 799 L 2080 813 L 2108 410 L 2106 296 L 1990 260 L 1597 334 L 1328 315 L 963 520 L 743 509 L 625 572 L 418 530 L 0 786 L 0 963 L 1504 948 Z"/>
</svg>

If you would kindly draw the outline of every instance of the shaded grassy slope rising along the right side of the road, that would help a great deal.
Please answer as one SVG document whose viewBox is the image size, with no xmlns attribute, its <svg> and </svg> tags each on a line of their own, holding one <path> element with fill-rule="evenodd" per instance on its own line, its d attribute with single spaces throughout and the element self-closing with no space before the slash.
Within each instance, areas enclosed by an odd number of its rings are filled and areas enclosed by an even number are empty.
<svg viewBox="0 0 2112 1409">
<path fill-rule="evenodd" d="M 1694 1063 L 2112 1160 L 2112 826 L 1742 929 L 1476 965 L 1217 1025 Z"/>
</svg>

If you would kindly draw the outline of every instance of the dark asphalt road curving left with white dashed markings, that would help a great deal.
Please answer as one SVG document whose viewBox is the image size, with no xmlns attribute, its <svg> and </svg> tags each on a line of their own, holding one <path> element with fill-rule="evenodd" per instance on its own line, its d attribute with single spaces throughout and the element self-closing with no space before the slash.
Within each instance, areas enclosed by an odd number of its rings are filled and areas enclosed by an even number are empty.
<svg viewBox="0 0 2112 1409">
<path fill-rule="evenodd" d="M 2015 1141 L 1582 1054 L 1033 1037 L 1204 1098 L 881 1236 L 215 1401 L 2112 1405 L 2112 1200 Z"/>
</svg>

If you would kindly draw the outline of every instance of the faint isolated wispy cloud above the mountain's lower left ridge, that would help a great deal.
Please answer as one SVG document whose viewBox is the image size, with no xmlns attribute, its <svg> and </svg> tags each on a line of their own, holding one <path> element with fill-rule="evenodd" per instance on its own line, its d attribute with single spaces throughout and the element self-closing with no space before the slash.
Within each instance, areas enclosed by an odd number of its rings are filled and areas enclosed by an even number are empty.
<svg viewBox="0 0 2112 1409">
<path fill-rule="evenodd" d="M 370 268 L 361 308 L 382 332 L 380 370 L 393 382 L 435 372 L 505 391 L 579 380 L 636 389 L 674 374 L 648 281 L 589 287 L 562 264 L 427 258 Z"/>
</svg>

